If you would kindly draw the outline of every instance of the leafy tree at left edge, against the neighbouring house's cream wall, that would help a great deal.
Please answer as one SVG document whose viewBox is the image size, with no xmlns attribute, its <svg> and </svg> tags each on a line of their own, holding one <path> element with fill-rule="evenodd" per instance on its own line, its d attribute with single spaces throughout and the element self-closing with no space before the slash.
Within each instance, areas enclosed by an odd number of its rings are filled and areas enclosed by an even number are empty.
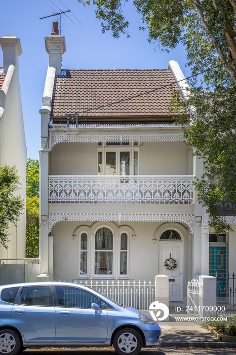
<svg viewBox="0 0 236 355">
<path fill-rule="evenodd" d="M 24 201 L 19 196 L 15 196 L 19 187 L 19 176 L 16 166 L 0 167 L 0 244 L 6 249 L 11 232 L 9 228 L 17 225 L 20 219 Z"/>
</svg>

